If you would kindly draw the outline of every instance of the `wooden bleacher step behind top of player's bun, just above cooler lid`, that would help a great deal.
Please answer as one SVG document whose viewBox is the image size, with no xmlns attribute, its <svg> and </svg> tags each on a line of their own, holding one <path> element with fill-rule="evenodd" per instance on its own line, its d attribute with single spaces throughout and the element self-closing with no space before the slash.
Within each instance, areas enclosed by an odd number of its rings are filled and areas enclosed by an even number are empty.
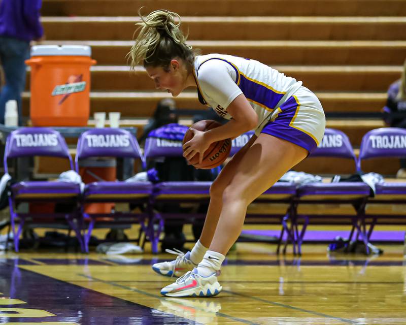
<svg viewBox="0 0 406 325">
<path fill-rule="evenodd" d="M 43 17 L 47 40 L 132 39 L 133 17 Z M 404 17 L 182 17 L 189 40 L 382 40 L 406 38 Z"/>
</svg>

